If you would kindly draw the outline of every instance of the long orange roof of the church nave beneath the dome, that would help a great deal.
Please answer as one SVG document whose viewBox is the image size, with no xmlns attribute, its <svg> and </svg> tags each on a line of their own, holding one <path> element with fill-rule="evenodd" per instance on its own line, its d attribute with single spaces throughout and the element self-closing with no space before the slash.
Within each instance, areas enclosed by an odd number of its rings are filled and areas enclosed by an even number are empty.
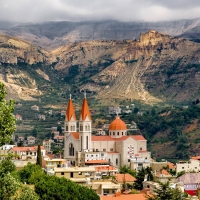
<svg viewBox="0 0 200 200">
<path fill-rule="evenodd" d="M 112 138 L 109 135 L 92 136 L 92 141 L 122 141 L 132 137 L 134 140 L 146 140 L 142 135 L 122 136 L 120 138 Z"/>
</svg>

